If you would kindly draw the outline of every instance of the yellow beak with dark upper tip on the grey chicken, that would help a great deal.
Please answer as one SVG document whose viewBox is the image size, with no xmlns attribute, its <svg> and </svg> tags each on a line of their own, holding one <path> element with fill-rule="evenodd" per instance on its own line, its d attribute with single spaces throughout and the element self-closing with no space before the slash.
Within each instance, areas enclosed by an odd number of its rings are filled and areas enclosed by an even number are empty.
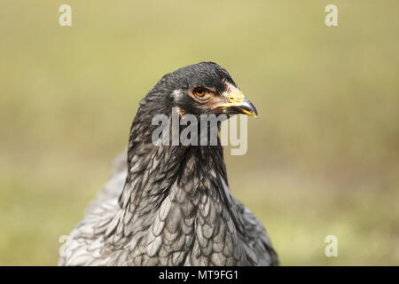
<svg viewBox="0 0 399 284">
<path fill-rule="evenodd" d="M 242 94 L 240 91 L 228 93 L 228 102 L 216 104 L 212 109 L 220 110 L 222 114 L 246 114 L 256 117 L 258 112 L 254 104 Z"/>
</svg>

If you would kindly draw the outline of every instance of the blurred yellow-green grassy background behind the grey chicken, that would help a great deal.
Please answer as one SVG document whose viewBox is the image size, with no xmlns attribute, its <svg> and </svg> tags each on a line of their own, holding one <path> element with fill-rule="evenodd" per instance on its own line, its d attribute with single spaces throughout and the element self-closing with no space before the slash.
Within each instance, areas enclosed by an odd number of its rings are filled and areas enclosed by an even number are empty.
<svg viewBox="0 0 399 284">
<path fill-rule="evenodd" d="M 59 26 L 59 5 L 72 27 Z M 325 5 L 339 26 L 325 26 Z M 399 264 L 397 1 L 0 4 L 0 264 L 57 264 L 139 99 L 212 60 L 260 116 L 225 151 L 284 265 Z M 325 237 L 338 256 L 325 256 Z"/>
</svg>

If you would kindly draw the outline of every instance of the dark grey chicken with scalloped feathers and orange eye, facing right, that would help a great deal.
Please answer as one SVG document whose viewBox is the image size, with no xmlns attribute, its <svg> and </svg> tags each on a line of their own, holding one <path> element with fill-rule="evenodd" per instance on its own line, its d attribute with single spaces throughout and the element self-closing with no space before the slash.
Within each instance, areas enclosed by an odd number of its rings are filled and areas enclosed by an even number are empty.
<svg viewBox="0 0 399 284">
<path fill-rule="evenodd" d="M 154 115 L 170 122 L 173 109 L 199 119 L 256 114 L 215 63 L 164 75 L 140 101 L 128 151 L 70 234 L 59 265 L 278 264 L 262 224 L 231 196 L 219 137 L 216 145 L 168 143 L 173 135 L 163 134 L 154 141 Z"/>
</svg>

